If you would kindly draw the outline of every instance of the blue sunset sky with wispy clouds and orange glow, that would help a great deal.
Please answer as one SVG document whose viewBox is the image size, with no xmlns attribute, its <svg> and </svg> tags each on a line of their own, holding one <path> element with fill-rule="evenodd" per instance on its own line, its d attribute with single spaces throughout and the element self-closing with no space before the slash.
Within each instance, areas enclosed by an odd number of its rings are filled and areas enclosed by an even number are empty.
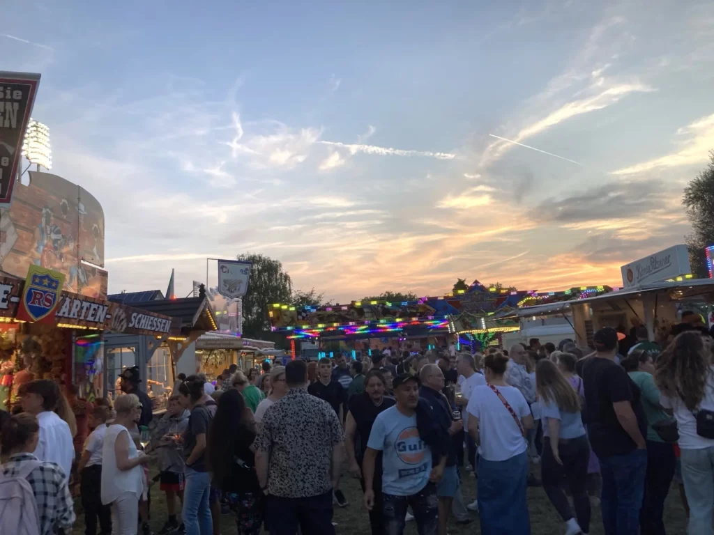
<svg viewBox="0 0 714 535">
<path fill-rule="evenodd" d="M 714 149 L 706 0 L 3 4 L 110 292 L 246 252 L 333 302 L 621 285 Z"/>
</svg>

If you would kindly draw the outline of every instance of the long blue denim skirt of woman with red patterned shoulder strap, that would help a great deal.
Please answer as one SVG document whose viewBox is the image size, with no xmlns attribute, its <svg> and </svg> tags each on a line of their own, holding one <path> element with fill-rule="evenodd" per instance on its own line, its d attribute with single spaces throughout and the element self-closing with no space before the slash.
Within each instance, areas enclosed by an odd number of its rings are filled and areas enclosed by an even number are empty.
<svg viewBox="0 0 714 535">
<path fill-rule="evenodd" d="M 505 461 L 478 457 L 481 535 L 531 535 L 526 503 L 528 452 Z"/>
</svg>

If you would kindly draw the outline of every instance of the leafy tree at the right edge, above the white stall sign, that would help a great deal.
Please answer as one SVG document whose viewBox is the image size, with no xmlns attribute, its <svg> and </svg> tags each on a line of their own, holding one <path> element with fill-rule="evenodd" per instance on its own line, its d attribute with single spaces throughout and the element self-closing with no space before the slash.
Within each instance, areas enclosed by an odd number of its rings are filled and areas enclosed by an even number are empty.
<svg viewBox="0 0 714 535">
<path fill-rule="evenodd" d="M 683 205 L 692 224 L 692 233 L 685 237 L 689 248 L 689 263 L 698 277 L 708 277 L 704 248 L 714 244 L 714 151 L 711 161 L 684 188 Z"/>
</svg>

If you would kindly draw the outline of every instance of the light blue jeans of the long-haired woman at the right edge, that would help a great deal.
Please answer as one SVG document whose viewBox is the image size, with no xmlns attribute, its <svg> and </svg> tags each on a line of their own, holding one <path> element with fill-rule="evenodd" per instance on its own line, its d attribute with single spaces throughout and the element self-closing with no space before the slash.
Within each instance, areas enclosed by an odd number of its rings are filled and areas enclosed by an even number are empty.
<svg viewBox="0 0 714 535">
<path fill-rule="evenodd" d="M 689 502 L 690 535 L 712 535 L 714 446 L 682 449 L 682 479 Z"/>
</svg>

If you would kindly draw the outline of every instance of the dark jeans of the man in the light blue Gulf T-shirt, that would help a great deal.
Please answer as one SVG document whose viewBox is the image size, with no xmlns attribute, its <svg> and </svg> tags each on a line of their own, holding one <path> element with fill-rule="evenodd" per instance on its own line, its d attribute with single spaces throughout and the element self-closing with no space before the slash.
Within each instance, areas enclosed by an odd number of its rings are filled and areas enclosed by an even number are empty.
<svg viewBox="0 0 714 535">
<path fill-rule="evenodd" d="M 436 535 L 439 529 L 438 499 L 436 485 L 426 486 L 411 496 L 394 496 L 382 494 L 384 512 L 384 535 L 402 535 L 404 533 L 404 517 L 406 509 L 411 505 L 419 535 Z"/>
</svg>

